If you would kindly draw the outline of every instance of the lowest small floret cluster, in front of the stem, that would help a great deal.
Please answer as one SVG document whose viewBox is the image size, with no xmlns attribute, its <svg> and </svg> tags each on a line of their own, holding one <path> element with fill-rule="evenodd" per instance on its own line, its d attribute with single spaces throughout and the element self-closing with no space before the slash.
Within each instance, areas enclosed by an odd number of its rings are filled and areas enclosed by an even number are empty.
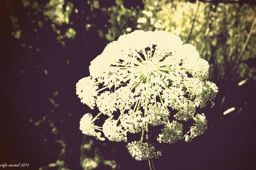
<svg viewBox="0 0 256 170">
<path fill-rule="evenodd" d="M 155 152 L 155 147 L 141 141 L 133 141 L 127 144 L 128 152 L 137 161 L 159 158 L 161 151 Z"/>
</svg>

